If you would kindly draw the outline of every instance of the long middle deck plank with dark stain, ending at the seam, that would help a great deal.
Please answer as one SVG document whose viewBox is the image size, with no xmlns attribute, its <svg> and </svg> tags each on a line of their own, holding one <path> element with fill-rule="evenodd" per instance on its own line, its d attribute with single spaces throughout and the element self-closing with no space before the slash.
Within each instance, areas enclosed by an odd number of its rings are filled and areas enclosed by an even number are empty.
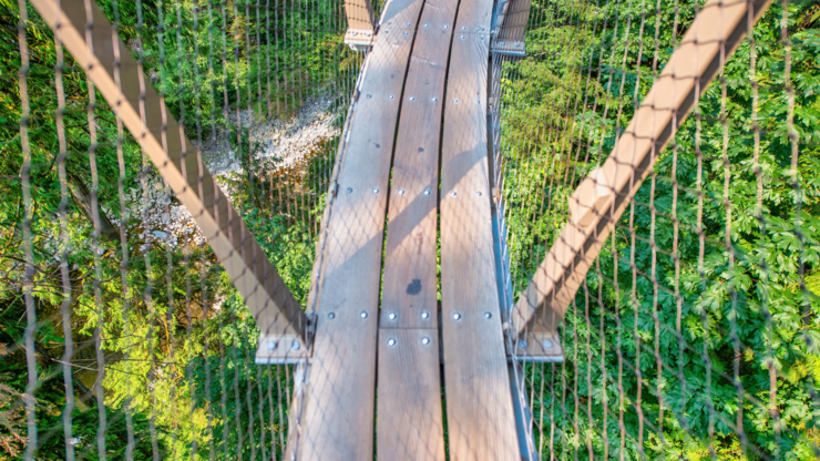
<svg viewBox="0 0 820 461">
<path fill-rule="evenodd" d="M 438 328 L 435 217 L 447 60 L 458 0 L 424 9 L 393 155 L 381 328 Z"/>
</svg>

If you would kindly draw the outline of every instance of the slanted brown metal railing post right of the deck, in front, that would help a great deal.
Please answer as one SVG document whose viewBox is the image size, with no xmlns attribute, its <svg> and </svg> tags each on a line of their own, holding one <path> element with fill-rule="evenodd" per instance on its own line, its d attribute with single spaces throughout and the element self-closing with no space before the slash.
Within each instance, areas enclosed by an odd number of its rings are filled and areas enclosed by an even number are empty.
<svg viewBox="0 0 820 461">
<path fill-rule="evenodd" d="M 709 0 L 608 158 L 570 198 L 570 222 L 513 309 L 520 337 L 552 335 L 660 151 L 771 0 Z"/>
</svg>

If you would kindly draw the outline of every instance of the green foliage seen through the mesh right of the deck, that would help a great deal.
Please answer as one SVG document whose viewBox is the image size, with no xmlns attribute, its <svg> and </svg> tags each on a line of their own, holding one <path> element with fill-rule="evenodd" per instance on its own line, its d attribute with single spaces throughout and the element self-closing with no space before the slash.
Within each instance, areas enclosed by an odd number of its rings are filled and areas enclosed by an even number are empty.
<svg viewBox="0 0 820 461">
<path fill-rule="evenodd" d="M 552 16 L 529 32 L 532 59 L 508 64 L 503 81 L 516 291 L 566 222 L 568 194 L 611 152 L 694 17 L 693 6 L 667 1 L 657 10 L 637 2 L 539 8 Z M 623 451 L 626 459 L 642 450 L 650 459 L 705 459 L 709 444 L 719 459 L 757 459 L 755 450 L 813 458 L 820 422 L 810 396 L 820 376 L 817 11 L 812 3 L 789 6 L 787 49 L 783 11 L 770 8 L 754 31 L 755 73 L 747 40 L 604 245 L 567 311 L 566 363 L 555 377 L 535 373 L 533 382 L 564 382 L 552 417 L 562 455 L 577 451 L 585 459 L 590 443 L 595 457 Z M 769 409 L 769 363 L 779 436 Z M 736 369 L 742 395 L 732 383 Z M 536 413 L 542 404 L 550 411 L 549 400 L 536 401 Z M 746 440 L 737 424 L 741 412 Z"/>
</svg>

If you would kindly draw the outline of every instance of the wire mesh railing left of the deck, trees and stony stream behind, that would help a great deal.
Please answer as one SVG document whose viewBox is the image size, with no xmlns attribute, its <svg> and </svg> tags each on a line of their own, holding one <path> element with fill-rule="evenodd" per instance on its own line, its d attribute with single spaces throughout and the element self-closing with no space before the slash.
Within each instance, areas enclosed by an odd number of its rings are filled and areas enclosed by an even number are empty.
<svg viewBox="0 0 820 461">
<path fill-rule="evenodd" d="M 163 141 L 178 121 L 304 308 L 362 60 L 342 3 L 62 8 L 119 34 L 161 95 Z M 0 459 L 280 459 L 293 367 L 255 365 L 259 328 L 211 236 L 63 47 L 70 24 L 0 9 Z"/>
</svg>

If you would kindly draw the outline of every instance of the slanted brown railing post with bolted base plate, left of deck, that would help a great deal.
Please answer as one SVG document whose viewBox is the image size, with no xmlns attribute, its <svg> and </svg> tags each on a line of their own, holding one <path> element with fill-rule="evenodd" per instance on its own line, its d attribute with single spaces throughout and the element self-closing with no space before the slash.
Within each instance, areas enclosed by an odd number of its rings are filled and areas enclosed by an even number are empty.
<svg viewBox="0 0 820 461">
<path fill-rule="evenodd" d="M 196 219 L 262 330 L 256 361 L 305 357 L 305 313 L 102 10 L 93 0 L 62 0 L 62 8 L 53 0 L 31 3 L 52 30 L 60 30 L 62 44 Z"/>
</svg>

